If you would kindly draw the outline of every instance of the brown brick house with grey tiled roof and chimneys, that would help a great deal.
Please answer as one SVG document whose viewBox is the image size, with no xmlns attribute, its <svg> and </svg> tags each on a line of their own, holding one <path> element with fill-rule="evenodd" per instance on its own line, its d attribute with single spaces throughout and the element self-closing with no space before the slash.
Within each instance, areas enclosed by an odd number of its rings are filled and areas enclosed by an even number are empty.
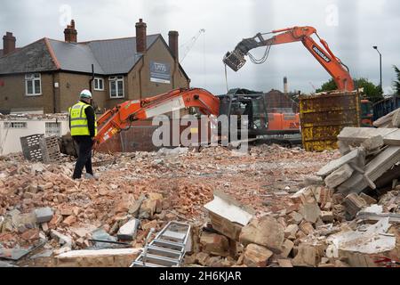
<svg viewBox="0 0 400 285">
<path fill-rule="evenodd" d="M 160 34 L 148 36 L 141 19 L 136 37 L 84 43 L 77 41 L 74 20 L 64 30 L 64 41 L 44 37 L 20 49 L 7 32 L 0 57 L 0 112 L 67 112 L 79 93 L 90 89 L 102 113 L 127 100 L 189 87 L 178 37 L 170 31 L 167 45 Z"/>
</svg>

